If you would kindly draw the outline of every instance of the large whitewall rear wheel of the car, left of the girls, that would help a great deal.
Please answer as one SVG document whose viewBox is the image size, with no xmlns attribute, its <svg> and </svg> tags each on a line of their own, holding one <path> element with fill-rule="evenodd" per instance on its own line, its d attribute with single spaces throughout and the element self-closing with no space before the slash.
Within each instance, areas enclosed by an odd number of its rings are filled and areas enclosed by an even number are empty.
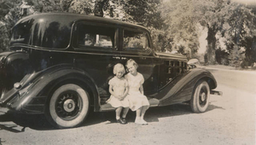
<svg viewBox="0 0 256 145">
<path fill-rule="evenodd" d="M 89 113 L 89 95 L 77 84 L 65 84 L 49 100 L 46 118 L 57 128 L 80 125 Z"/>
</svg>

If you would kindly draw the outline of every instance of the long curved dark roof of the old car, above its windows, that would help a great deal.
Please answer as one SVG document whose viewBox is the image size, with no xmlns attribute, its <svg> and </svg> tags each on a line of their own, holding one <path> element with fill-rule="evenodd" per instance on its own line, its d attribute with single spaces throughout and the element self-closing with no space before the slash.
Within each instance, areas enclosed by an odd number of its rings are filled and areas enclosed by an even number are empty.
<svg viewBox="0 0 256 145">
<path fill-rule="evenodd" d="M 114 20 L 111 18 L 103 18 L 103 17 L 99 17 L 99 16 L 92 16 L 92 15 L 86 15 L 86 14 L 72 14 L 72 13 L 31 14 L 31 15 L 28 15 L 28 16 L 20 19 L 16 23 L 16 25 L 18 25 L 22 21 L 26 21 L 26 20 L 30 20 L 30 19 L 38 20 L 38 19 L 42 19 L 42 18 L 56 20 L 56 21 L 65 19 L 65 20 L 69 21 L 70 23 L 73 23 L 77 20 L 85 20 L 85 21 L 100 22 L 100 23 L 110 24 L 110 25 L 115 25 L 115 26 L 139 28 L 139 29 L 143 29 L 144 31 L 148 31 L 148 29 L 144 26 L 139 26 L 139 25 L 128 23 L 128 22 L 121 21 L 121 20 Z"/>
</svg>

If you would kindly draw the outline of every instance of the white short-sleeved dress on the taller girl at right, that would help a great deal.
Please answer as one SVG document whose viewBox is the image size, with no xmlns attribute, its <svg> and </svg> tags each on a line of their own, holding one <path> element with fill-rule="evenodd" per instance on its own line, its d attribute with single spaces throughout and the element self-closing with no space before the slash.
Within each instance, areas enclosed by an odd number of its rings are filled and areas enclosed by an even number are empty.
<svg viewBox="0 0 256 145">
<path fill-rule="evenodd" d="M 147 96 L 144 96 L 139 90 L 141 84 L 144 83 L 143 75 L 137 73 L 137 75 L 134 76 L 131 73 L 127 73 L 125 79 L 127 79 L 129 86 L 128 96 L 126 97 L 129 100 L 131 111 L 136 111 L 143 106 L 149 107 Z"/>
</svg>

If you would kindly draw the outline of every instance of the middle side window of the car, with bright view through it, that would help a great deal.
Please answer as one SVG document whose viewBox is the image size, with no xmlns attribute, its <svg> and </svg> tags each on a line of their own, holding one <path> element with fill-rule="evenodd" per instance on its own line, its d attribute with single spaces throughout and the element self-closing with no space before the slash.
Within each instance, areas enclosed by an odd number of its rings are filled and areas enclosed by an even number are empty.
<svg viewBox="0 0 256 145">
<path fill-rule="evenodd" d="M 113 49 L 115 29 L 107 26 L 91 26 L 80 23 L 77 26 L 79 49 Z"/>
</svg>

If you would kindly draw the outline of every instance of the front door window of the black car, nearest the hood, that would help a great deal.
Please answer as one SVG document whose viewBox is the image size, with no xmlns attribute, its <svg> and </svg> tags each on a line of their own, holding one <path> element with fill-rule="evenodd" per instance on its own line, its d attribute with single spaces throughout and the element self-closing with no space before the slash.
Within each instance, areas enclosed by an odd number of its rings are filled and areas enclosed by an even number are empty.
<svg viewBox="0 0 256 145">
<path fill-rule="evenodd" d="M 125 30 L 123 48 L 125 51 L 148 52 L 147 33 Z"/>
</svg>

